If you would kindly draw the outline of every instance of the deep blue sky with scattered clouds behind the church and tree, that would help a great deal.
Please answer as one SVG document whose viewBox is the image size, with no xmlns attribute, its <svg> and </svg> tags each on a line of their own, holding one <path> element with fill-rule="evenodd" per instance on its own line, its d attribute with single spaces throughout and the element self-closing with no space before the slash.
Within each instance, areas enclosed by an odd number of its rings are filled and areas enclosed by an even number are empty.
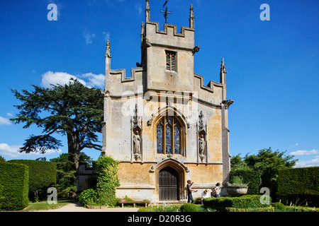
<svg viewBox="0 0 319 226">
<path fill-rule="evenodd" d="M 57 20 L 47 20 L 48 4 Z M 151 20 L 163 28 L 164 1 L 150 0 Z M 319 166 L 319 1 L 169 0 L 168 23 L 189 25 L 195 14 L 195 73 L 219 82 L 225 58 L 229 108 L 230 155 L 262 148 L 298 158 L 297 167 Z M 262 4 L 270 20 L 260 20 Z M 22 129 L 9 118 L 19 102 L 10 89 L 31 90 L 77 77 L 103 89 L 106 40 L 111 42 L 111 69 L 135 67 L 140 61 L 140 25 L 145 0 L 0 1 L 0 155 L 6 160 L 57 157 L 20 154 L 18 148 L 40 129 Z M 94 159 L 96 150 L 85 153 Z"/>
</svg>

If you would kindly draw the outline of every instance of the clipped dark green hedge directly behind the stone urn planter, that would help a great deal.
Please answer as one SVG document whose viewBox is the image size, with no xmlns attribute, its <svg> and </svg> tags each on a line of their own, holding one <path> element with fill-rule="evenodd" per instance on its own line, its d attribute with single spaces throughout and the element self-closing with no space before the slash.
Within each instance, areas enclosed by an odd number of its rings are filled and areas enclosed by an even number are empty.
<svg viewBox="0 0 319 226">
<path fill-rule="evenodd" d="M 262 184 L 261 174 L 258 171 L 254 171 L 252 169 L 247 170 L 232 170 L 230 171 L 230 183 L 233 183 L 234 177 L 241 177 L 242 182 L 244 184 L 248 184 L 249 188 L 247 191 L 248 195 L 258 195 L 259 194 L 259 186 Z"/>
</svg>

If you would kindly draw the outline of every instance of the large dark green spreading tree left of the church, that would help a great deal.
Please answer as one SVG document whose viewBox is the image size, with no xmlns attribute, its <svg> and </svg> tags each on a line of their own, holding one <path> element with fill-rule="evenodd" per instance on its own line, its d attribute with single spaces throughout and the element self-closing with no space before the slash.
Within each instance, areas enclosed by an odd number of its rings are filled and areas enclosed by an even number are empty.
<svg viewBox="0 0 319 226">
<path fill-rule="evenodd" d="M 43 128 L 40 135 L 31 135 L 23 143 L 20 152 L 45 153 L 48 149 L 58 149 L 62 141 L 53 134 L 67 136 L 69 160 L 79 166 L 79 154 L 84 148 L 101 150 L 97 133 L 101 133 L 103 119 L 103 95 L 101 90 L 87 88 L 77 80 L 66 85 L 52 85 L 34 91 L 11 90 L 21 105 L 15 105 L 20 112 L 11 119 L 15 124 L 25 124 L 28 128 L 35 124 Z"/>
</svg>

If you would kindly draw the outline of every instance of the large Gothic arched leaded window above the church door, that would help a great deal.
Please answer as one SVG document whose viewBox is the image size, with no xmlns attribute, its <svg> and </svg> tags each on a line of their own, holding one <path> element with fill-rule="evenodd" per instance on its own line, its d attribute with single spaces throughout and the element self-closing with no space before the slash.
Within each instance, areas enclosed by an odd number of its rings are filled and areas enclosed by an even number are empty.
<svg viewBox="0 0 319 226">
<path fill-rule="evenodd" d="M 181 153 L 181 124 L 172 116 L 159 119 L 156 126 L 157 154 Z"/>
</svg>

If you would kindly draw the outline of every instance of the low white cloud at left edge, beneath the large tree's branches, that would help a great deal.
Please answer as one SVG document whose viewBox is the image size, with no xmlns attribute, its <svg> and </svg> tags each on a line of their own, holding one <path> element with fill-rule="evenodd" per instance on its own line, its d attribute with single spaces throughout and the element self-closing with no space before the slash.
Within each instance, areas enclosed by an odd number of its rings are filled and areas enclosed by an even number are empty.
<svg viewBox="0 0 319 226">
<path fill-rule="evenodd" d="M 32 153 L 20 153 L 19 150 L 22 147 L 22 145 L 8 145 L 6 143 L 0 143 L 0 155 L 3 157 L 28 157 L 28 156 L 43 156 L 43 154 L 39 152 L 32 152 Z M 46 150 L 46 155 L 62 153 L 61 149 L 52 150 L 48 149 Z"/>
</svg>

